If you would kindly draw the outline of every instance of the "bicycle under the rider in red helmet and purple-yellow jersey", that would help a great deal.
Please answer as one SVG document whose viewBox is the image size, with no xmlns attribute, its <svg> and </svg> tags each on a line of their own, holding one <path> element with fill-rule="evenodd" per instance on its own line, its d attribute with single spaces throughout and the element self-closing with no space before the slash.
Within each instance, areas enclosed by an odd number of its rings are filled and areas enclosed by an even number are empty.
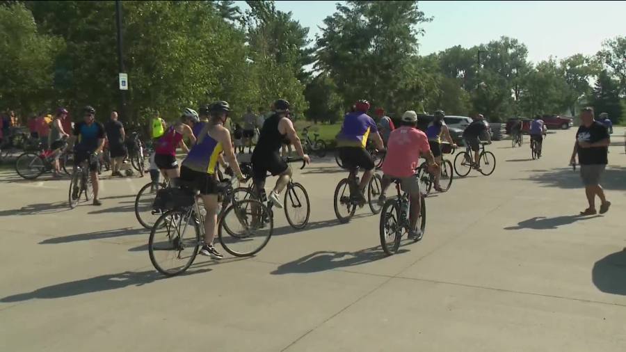
<svg viewBox="0 0 626 352">
<path fill-rule="evenodd" d="M 348 177 L 339 181 L 335 188 L 335 196 L 333 197 L 333 206 L 335 207 L 335 216 L 339 223 L 347 223 L 354 216 L 356 207 L 359 205 L 359 168 L 353 168 L 349 171 Z M 380 177 L 378 173 L 369 180 L 367 184 L 367 203 L 369 209 L 373 214 L 380 212 L 380 206 L 378 205 L 378 197 L 383 190 L 383 177 Z M 342 214 L 342 211 L 346 211 L 346 214 Z"/>
</svg>

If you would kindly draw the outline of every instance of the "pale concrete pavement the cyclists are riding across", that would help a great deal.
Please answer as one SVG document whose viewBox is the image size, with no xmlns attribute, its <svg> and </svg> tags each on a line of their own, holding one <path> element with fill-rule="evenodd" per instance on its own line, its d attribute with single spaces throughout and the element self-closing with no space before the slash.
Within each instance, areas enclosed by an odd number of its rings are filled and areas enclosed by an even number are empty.
<svg viewBox="0 0 626 352">
<path fill-rule="evenodd" d="M 0 351 L 622 351 L 624 129 L 603 182 L 611 210 L 587 218 L 574 134 L 549 134 L 538 161 L 528 137 L 488 146 L 495 173 L 429 197 L 424 239 L 392 257 L 367 206 L 337 223 L 346 173 L 315 162 L 295 172 L 305 230 L 276 211 L 256 257 L 198 257 L 167 279 L 133 212 L 145 177 L 104 179 L 102 207 L 70 210 L 68 179 L 1 170 Z"/>
</svg>

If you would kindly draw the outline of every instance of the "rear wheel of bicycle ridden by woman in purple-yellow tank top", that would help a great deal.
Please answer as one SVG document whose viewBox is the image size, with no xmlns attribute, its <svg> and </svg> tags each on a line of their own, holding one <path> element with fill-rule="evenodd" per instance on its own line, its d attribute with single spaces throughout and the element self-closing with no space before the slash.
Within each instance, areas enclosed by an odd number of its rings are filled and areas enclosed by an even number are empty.
<svg viewBox="0 0 626 352">
<path fill-rule="evenodd" d="M 148 239 L 150 262 L 159 273 L 174 276 L 188 269 L 198 255 L 200 224 L 188 211 L 170 210 L 154 223 Z"/>
</svg>

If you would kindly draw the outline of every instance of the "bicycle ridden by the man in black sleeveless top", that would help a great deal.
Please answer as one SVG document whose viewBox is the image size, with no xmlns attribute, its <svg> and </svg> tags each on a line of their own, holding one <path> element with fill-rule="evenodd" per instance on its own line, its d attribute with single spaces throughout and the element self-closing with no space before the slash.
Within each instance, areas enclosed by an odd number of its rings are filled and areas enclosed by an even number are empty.
<svg viewBox="0 0 626 352">
<path fill-rule="evenodd" d="M 302 166 L 300 167 L 300 170 L 302 170 L 306 166 L 304 159 L 300 157 L 287 157 L 285 161 L 287 163 L 302 161 Z M 249 163 L 241 163 L 240 167 L 242 169 L 241 172 L 243 173 L 243 175 L 246 176 L 246 182 L 248 182 L 252 178 L 252 166 Z M 242 191 L 246 193 L 244 193 L 243 195 L 237 195 L 237 193 Z M 274 216 L 273 202 L 267 199 L 265 190 L 262 190 L 262 194 L 257 194 L 254 179 L 252 179 L 252 183 L 250 183 L 247 187 L 236 188 L 234 190 L 234 193 L 236 195 L 236 199 L 246 199 L 247 197 L 253 195 L 255 199 L 266 204 L 269 216 Z M 306 209 L 304 209 L 304 207 L 306 207 Z M 309 216 L 311 215 L 311 203 L 309 201 L 309 194 L 302 184 L 294 182 L 293 177 L 289 178 L 287 191 L 285 191 L 284 193 L 283 208 L 284 216 L 287 218 L 287 222 L 289 223 L 289 225 L 291 225 L 291 227 L 294 227 L 294 229 L 303 229 L 309 223 Z M 294 214 L 289 214 L 290 211 L 293 211 Z"/>
</svg>

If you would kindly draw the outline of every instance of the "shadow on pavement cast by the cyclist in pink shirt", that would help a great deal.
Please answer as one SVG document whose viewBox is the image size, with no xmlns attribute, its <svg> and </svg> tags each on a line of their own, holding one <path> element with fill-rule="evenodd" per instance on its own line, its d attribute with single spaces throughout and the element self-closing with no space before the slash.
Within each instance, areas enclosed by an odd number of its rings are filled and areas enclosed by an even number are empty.
<svg viewBox="0 0 626 352">
<path fill-rule="evenodd" d="M 406 249 L 398 250 L 399 253 L 408 252 Z M 272 275 L 283 275 L 289 273 L 316 273 L 346 266 L 354 266 L 374 262 L 378 259 L 385 259 L 387 255 L 380 246 L 358 250 L 356 252 L 331 252 L 319 251 L 305 255 L 293 262 L 278 266 Z"/>
</svg>

